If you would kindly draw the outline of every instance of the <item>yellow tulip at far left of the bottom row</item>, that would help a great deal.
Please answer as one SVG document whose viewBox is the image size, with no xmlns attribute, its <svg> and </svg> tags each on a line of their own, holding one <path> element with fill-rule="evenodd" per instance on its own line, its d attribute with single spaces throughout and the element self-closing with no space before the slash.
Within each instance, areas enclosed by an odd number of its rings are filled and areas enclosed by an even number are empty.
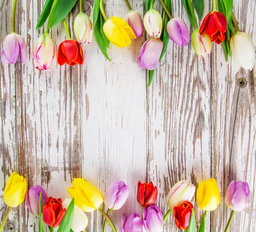
<svg viewBox="0 0 256 232">
<path fill-rule="evenodd" d="M 25 200 L 27 191 L 26 179 L 16 172 L 10 175 L 3 193 L 3 200 L 9 207 L 17 207 Z"/>
</svg>

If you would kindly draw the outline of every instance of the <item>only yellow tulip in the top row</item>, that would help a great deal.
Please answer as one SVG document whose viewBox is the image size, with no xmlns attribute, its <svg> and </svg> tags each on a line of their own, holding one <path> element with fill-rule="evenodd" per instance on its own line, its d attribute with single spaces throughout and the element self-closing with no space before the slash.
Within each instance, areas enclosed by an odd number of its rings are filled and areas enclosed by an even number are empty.
<svg viewBox="0 0 256 232">
<path fill-rule="evenodd" d="M 127 47 L 131 44 L 131 39 L 136 36 L 125 20 L 119 17 L 111 17 L 103 25 L 103 31 L 110 42 L 116 47 Z"/>
</svg>

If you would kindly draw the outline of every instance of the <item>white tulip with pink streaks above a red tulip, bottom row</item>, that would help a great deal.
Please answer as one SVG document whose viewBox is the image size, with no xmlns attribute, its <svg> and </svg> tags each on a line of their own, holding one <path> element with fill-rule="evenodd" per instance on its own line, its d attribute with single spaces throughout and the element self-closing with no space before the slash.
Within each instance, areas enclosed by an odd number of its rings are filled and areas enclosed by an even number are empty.
<svg viewBox="0 0 256 232">
<path fill-rule="evenodd" d="M 181 206 L 186 201 L 191 201 L 195 193 L 195 185 L 187 180 L 177 182 L 168 194 L 169 209 L 173 210 L 175 206 Z"/>
</svg>

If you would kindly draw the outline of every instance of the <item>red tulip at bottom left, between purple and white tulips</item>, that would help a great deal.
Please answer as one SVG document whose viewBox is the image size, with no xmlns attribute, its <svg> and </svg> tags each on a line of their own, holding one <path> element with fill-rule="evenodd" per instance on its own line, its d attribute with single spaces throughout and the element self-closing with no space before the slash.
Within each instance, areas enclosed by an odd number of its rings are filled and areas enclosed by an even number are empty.
<svg viewBox="0 0 256 232">
<path fill-rule="evenodd" d="M 66 213 L 67 209 L 62 209 L 61 198 L 49 197 L 43 207 L 43 220 L 44 223 L 51 227 L 57 227 Z"/>
</svg>

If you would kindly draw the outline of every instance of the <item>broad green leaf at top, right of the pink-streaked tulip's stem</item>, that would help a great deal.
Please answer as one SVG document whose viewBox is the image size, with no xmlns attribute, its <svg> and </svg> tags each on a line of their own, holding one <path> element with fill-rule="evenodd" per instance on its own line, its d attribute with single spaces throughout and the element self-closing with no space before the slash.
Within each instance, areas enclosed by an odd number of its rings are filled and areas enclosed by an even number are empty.
<svg viewBox="0 0 256 232">
<path fill-rule="evenodd" d="M 77 0 L 58 0 L 52 12 L 49 28 L 53 28 L 55 25 L 61 22 L 61 20 L 63 20 L 64 17 L 66 17 L 72 10 L 73 6 L 75 6 L 76 1 Z"/>
</svg>

